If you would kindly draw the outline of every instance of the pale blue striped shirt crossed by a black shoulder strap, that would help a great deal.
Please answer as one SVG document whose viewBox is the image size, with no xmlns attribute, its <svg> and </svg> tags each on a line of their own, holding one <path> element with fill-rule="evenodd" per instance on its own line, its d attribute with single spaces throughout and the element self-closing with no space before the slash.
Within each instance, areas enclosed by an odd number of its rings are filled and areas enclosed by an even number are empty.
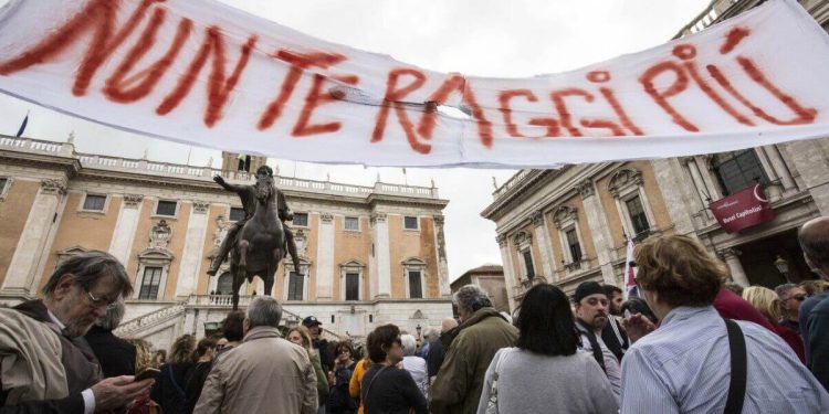
<svg viewBox="0 0 829 414">
<path fill-rule="evenodd" d="M 829 394 L 774 332 L 736 321 L 748 354 L 743 413 L 828 413 Z M 679 307 L 622 360 L 621 413 L 722 413 L 731 380 L 725 322 Z"/>
</svg>

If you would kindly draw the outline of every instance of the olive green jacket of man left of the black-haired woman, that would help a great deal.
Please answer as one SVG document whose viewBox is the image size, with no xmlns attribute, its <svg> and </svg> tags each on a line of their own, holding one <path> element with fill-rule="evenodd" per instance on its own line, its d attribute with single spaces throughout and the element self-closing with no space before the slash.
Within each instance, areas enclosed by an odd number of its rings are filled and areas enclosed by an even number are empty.
<svg viewBox="0 0 829 414">
<path fill-rule="evenodd" d="M 492 358 L 518 340 L 518 330 L 494 308 L 479 309 L 458 328 L 429 388 L 432 413 L 475 413 Z"/>
</svg>

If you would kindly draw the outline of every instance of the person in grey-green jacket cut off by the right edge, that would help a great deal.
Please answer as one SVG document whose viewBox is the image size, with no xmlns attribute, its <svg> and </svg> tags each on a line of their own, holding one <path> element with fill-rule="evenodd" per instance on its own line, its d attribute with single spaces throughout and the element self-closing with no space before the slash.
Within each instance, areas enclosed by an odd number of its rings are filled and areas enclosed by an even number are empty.
<svg viewBox="0 0 829 414">
<path fill-rule="evenodd" d="M 806 222 L 797 232 L 797 240 L 811 272 L 829 280 L 829 216 Z M 829 291 L 800 306 L 800 329 L 806 364 L 829 391 Z"/>
</svg>

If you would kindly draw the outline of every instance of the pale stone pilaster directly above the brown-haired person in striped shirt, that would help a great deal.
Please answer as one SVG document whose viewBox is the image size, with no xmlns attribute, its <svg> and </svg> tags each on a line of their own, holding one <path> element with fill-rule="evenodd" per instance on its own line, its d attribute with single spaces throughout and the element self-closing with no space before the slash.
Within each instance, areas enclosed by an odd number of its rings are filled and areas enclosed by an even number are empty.
<svg viewBox="0 0 829 414">
<path fill-rule="evenodd" d="M 682 166 L 676 158 L 651 161 L 657 185 L 662 193 L 668 215 L 678 234 L 694 232 L 692 215 L 702 210 L 699 195 L 694 194 L 683 179 Z"/>
</svg>

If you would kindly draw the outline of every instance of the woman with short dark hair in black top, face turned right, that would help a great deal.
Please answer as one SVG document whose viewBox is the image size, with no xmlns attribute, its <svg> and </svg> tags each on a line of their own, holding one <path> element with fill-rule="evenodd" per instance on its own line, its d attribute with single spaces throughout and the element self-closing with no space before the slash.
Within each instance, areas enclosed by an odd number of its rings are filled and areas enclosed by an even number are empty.
<svg viewBox="0 0 829 414">
<path fill-rule="evenodd" d="M 377 327 L 368 335 L 368 358 L 372 365 L 363 376 L 360 395 L 366 414 L 429 413 L 426 397 L 414 380 L 397 364 L 403 360 L 400 328 L 395 325 Z"/>
</svg>

